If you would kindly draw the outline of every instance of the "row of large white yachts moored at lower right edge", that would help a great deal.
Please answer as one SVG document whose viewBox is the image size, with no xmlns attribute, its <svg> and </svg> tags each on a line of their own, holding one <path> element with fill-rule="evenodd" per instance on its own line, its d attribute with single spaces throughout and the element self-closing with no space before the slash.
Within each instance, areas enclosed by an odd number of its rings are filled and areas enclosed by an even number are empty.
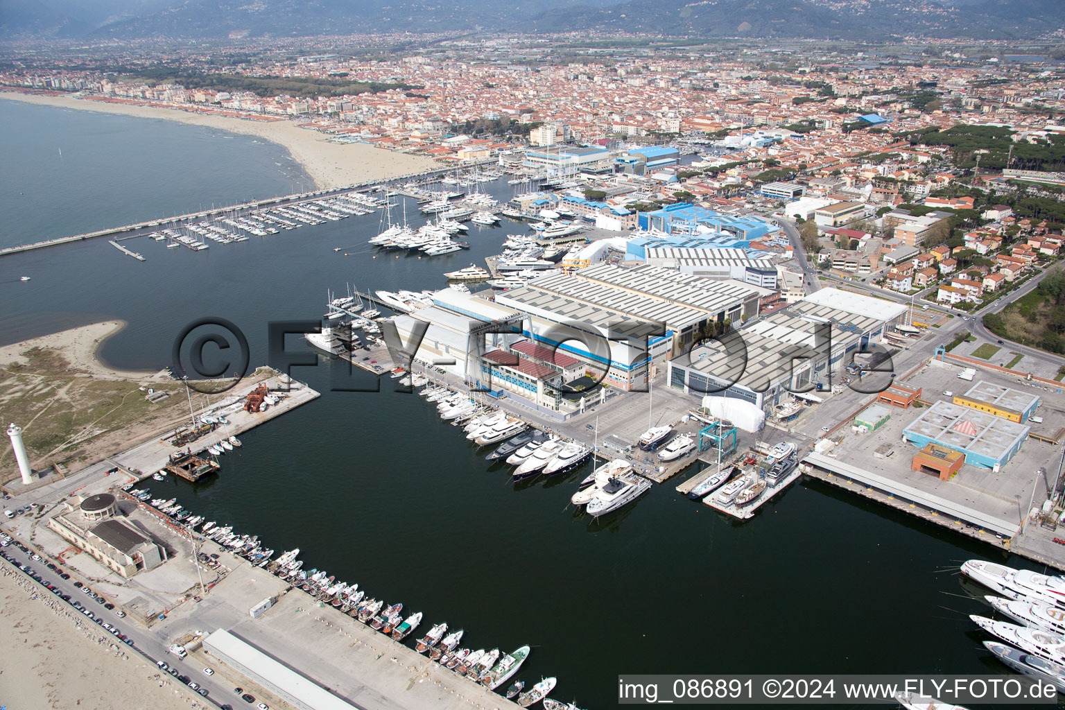
<svg viewBox="0 0 1065 710">
<path fill-rule="evenodd" d="M 998 639 L 984 641 L 984 647 L 1014 671 L 1051 683 L 1065 694 L 1065 577 L 986 560 L 967 560 L 961 571 L 996 592 L 984 599 L 1011 620 L 969 616 Z"/>
</svg>

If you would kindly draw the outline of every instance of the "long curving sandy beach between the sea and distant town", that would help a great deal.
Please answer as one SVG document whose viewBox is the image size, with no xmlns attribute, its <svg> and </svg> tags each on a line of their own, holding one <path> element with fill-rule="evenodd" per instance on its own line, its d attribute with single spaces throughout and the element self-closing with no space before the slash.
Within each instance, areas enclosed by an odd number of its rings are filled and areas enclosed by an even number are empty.
<svg viewBox="0 0 1065 710">
<path fill-rule="evenodd" d="M 317 131 L 298 128 L 290 120 L 245 120 L 227 116 L 212 116 L 187 111 L 155 109 L 132 104 L 104 103 L 76 99 L 71 96 L 42 96 L 0 92 L 0 99 L 23 101 L 78 111 L 122 114 L 142 118 L 162 118 L 194 126 L 206 126 L 232 133 L 253 135 L 280 144 L 289 150 L 304 170 L 321 189 L 350 185 L 366 180 L 379 180 L 409 172 L 438 167 L 435 161 L 423 155 L 408 155 L 365 144 L 329 143 Z"/>
</svg>

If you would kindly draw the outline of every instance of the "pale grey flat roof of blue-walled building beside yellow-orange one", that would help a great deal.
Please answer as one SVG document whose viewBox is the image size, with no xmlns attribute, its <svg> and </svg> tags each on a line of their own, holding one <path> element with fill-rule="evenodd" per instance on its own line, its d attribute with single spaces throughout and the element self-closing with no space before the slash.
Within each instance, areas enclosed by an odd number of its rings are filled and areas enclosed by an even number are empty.
<svg viewBox="0 0 1065 710">
<path fill-rule="evenodd" d="M 1000 460 L 1028 436 L 1030 427 L 937 400 L 903 430 L 904 435 L 925 436 L 952 449 Z"/>
</svg>

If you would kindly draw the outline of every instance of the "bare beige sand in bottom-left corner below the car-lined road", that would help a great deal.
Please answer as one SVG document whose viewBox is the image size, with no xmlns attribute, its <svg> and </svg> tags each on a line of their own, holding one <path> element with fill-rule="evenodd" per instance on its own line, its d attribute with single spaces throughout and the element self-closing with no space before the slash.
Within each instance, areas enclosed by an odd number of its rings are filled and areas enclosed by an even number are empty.
<svg viewBox="0 0 1065 710">
<path fill-rule="evenodd" d="M 4 563 L 0 705 L 10 708 L 211 707 Z M 121 647 L 120 647 L 121 646 Z M 193 699 L 196 698 L 196 699 Z"/>
</svg>

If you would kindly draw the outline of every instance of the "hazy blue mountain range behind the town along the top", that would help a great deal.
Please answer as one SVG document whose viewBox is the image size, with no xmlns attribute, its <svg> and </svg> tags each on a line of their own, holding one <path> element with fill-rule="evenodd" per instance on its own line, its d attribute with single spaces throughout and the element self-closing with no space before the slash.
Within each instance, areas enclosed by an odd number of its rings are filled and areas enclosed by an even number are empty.
<svg viewBox="0 0 1065 710">
<path fill-rule="evenodd" d="M 366 32 L 1017 39 L 1062 0 L 0 0 L 0 37 L 224 38 Z"/>
</svg>

